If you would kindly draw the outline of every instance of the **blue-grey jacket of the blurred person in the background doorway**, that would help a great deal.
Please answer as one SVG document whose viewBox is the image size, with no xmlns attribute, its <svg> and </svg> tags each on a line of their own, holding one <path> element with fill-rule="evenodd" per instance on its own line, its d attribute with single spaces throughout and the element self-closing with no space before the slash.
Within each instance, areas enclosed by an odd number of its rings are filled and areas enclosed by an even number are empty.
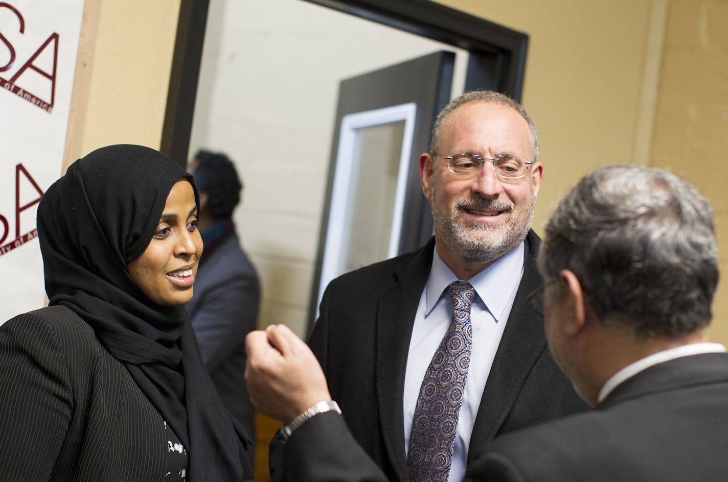
<svg viewBox="0 0 728 482">
<path fill-rule="evenodd" d="M 230 233 L 209 256 L 203 254 L 187 311 L 220 398 L 249 434 L 255 433 L 255 409 L 242 379 L 243 341 L 256 329 L 259 302 L 256 270 Z"/>
</svg>

